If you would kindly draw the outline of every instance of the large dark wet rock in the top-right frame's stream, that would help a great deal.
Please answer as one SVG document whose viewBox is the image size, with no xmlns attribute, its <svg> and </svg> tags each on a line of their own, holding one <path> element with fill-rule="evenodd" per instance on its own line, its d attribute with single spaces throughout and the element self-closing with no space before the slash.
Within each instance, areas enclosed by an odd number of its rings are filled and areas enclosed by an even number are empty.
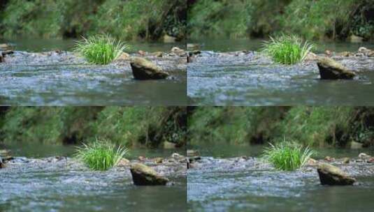
<svg viewBox="0 0 374 212">
<path fill-rule="evenodd" d="M 327 57 L 320 57 L 317 66 L 321 79 L 353 79 L 356 75 L 352 70 Z"/>
</svg>

